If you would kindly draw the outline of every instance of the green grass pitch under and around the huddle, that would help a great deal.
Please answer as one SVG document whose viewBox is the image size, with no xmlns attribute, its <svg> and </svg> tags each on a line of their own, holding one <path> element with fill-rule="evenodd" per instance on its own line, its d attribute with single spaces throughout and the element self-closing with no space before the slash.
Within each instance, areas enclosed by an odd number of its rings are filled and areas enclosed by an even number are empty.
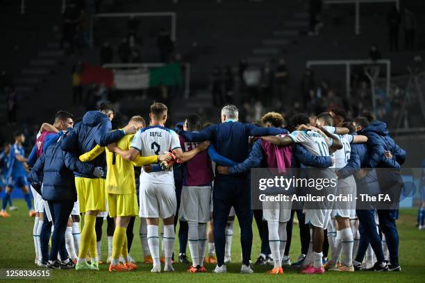
<svg viewBox="0 0 425 283">
<path fill-rule="evenodd" d="M 23 200 L 14 200 L 19 210 L 12 212 L 10 218 L 0 218 L 0 268 L 36 268 L 33 247 L 33 218 L 28 217 L 28 211 Z M 232 245 L 232 264 L 228 264 L 226 274 L 213 274 L 213 266 L 208 265 L 208 273 L 189 274 L 188 266 L 174 264 L 175 273 L 150 273 L 151 266 L 138 263 L 138 270 L 128 273 L 109 273 L 106 264 L 96 272 L 83 271 L 53 271 L 53 282 L 425 282 L 425 231 L 414 227 L 416 218 L 415 209 L 402 209 L 397 221 L 400 235 L 400 273 L 325 273 L 324 275 L 302 275 L 295 268 L 284 268 L 283 275 L 267 275 L 267 266 L 253 266 L 254 274 L 240 274 L 240 238 L 238 221 L 235 221 L 235 234 Z M 139 220 L 135 223 L 135 239 L 131 248 L 131 255 L 142 260 L 142 251 L 138 236 Z M 106 222 L 103 223 L 102 255 L 106 260 L 108 243 L 106 240 Z M 253 223 L 252 259 L 260 251 L 258 230 Z M 177 240 L 178 241 L 178 240 Z M 178 243 L 176 241 L 176 254 Z M 294 226 L 290 257 L 294 261 L 299 256 L 299 232 Z M 1 281 L 1 280 L 0 280 Z M 13 280 L 12 282 L 28 282 L 28 280 Z M 32 280 L 34 281 L 34 280 Z M 38 280 L 41 281 L 41 280 Z M 49 282 L 50 280 L 47 280 Z M 6 282 L 6 281 L 5 281 Z M 1 283 L 1 282 L 0 282 Z"/>
</svg>

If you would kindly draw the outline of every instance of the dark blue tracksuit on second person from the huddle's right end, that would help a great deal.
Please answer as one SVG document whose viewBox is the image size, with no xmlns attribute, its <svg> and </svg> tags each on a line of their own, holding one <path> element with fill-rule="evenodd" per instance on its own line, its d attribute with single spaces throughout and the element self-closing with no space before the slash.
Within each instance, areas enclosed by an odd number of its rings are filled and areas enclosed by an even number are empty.
<svg viewBox="0 0 425 283">
<path fill-rule="evenodd" d="M 347 165 L 338 171 L 338 174 L 342 178 L 347 178 L 349 175 L 356 173 L 360 168 L 366 168 L 369 162 L 369 148 L 367 144 L 351 144 L 351 155 Z M 369 194 L 376 195 L 379 193 L 378 177 L 374 169 L 367 169 L 365 177 L 356 178 L 357 194 Z M 358 200 L 360 201 L 360 200 Z M 375 208 L 373 205 L 367 209 L 366 207 L 360 207 L 357 205 L 356 214 L 358 217 L 360 242 L 358 244 L 358 250 L 356 261 L 362 262 L 365 258 L 367 247 L 370 246 L 375 252 L 378 263 L 383 263 L 384 255 L 381 245 L 381 237 L 379 237 L 378 231 L 376 230 L 375 222 Z"/>
</svg>

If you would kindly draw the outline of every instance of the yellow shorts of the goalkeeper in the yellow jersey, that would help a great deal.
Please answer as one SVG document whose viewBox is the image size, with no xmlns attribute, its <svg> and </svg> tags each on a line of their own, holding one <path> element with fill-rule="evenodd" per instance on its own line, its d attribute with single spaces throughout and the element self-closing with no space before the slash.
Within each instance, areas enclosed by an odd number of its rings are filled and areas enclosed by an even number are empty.
<svg viewBox="0 0 425 283">
<path fill-rule="evenodd" d="M 138 198 L 133 194 L 108 194 L 108 211 L 110 217 L 138 216 Z"/>
</svg>

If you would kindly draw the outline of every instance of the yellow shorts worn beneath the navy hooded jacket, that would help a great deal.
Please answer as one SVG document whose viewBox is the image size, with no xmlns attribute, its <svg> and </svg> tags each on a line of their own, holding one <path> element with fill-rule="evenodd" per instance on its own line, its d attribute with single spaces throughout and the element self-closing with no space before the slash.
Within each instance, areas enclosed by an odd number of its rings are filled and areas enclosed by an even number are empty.
<svg viewBox="0 0 425 283">
<path fill-rule="evenodd" d="M 106 212 L 105 180 L 101 178 L 75 178 L 75 187 L 80 204 L 80 213 L 92 210 Z"/>
</svg>

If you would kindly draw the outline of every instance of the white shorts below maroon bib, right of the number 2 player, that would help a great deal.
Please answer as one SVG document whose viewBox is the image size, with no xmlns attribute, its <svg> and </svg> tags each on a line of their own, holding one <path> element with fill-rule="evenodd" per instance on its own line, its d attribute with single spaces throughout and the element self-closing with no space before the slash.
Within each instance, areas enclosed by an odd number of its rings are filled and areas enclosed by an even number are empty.
<svg viewBox="0 0 425 283">
<path fill-rule="evenodd" d="M 186 187 L 181 190 L 180 220 L 207 223 L 211 220 L 211 187 Z"/>
</svg>

